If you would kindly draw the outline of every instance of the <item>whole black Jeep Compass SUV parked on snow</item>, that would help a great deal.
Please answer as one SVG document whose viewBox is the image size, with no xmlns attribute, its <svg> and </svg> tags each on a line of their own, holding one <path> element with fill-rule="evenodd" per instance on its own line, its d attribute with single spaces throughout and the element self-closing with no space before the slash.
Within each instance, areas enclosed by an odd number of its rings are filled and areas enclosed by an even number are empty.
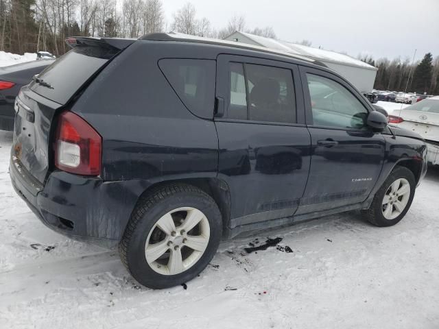
<svg viewBox="0 0 439 329">
<path fill-rule="evenodd" d="M 168 34 L 68 42 L 16 99 L 12 184 L 147 287 L 191 280 L 249 230 L 355 209 L 392 226 L 425 175 L 423 138 L 314 60 Z"/>
</svg>

